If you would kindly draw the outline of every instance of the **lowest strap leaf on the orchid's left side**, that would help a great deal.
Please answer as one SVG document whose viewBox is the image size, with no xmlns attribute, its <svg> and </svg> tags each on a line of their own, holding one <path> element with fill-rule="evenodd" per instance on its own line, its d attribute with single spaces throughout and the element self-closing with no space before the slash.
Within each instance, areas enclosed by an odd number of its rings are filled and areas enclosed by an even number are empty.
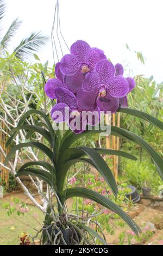
<svg viewBox="0 0 163 256">
<path fill-rule="evenodd" d="M 27 168 L 24 170 L 18 171 L 15 175 L 15 177 L 20 177 L 22 175 L 32 175 L 36 176 L 37 178 L 45 181 L 48 185 L 53 186 L 52 184 L 52 174 L 49 172 L 46 172 L 42 169 L 35 169 L 35 168 Z"/>
</svg>

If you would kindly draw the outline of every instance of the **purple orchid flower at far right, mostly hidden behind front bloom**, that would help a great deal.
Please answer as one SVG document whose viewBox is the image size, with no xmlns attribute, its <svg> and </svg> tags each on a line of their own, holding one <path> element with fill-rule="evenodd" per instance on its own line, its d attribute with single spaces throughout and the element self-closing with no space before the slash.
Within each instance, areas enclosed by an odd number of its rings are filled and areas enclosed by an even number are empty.
<svg viewBox="0 0 163 256">
<path fill-rule="evenodd" d="M 123 76 L 124 69 L 123 69 L 123 66 L 120 63 L 117 63 L 115 65 L 115 70 L 116 70 L 116 74 L 115 74 L 116 76 L 118 76 L 118 75 Z M 129 85 L 128 93 L 130 93 L 131 90 L 133 90 L 135 88 L 136 83 L 135 83 L 135 80 L 132 77 L 127 77 L 126 79 L 127 79 L 128 85 Z M 120 107 L 122 107 L 122 108 L 127 108 L 128 107 L 127 95 L 124 96 L 124 97 L 121 97 L 119 100 L 120 100 Z"/>
</svg>

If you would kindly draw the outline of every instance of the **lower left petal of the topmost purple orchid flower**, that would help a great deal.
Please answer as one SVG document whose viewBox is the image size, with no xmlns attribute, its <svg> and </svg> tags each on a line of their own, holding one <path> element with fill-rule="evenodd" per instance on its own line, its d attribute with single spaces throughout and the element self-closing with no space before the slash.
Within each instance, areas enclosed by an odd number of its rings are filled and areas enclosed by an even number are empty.
<svg viewBox="0 0 163 256">
<path fill-rule="evenodd" d="M 84 78 L 85 76 L 80 70 L 77 71 L 77 73 L 73 76 L 65 76 L 65 87 L 71 90 L 71 92 L 77 93 L 78 90 L 82 87 Z"/>
</svg>

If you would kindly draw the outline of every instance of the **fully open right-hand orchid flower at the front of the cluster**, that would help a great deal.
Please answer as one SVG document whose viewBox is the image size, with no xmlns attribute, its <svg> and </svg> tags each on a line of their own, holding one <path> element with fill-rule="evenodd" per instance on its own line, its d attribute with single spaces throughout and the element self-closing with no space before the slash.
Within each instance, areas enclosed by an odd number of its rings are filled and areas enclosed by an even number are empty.
<svg viewBox="0 0 163 256">
<path fill-rule="evenodd" d="M 97 106 L 101 111 L 115 113 L 119 98 L 126 96 L 129 90 L 126 78 L 115 76 L 115 72 L 109 60 L 99 61 L 93 71 L 85 76 L 82 89 L 77 93 L 78 106 L 90 111 L 92 106 Z"/>
</svg>

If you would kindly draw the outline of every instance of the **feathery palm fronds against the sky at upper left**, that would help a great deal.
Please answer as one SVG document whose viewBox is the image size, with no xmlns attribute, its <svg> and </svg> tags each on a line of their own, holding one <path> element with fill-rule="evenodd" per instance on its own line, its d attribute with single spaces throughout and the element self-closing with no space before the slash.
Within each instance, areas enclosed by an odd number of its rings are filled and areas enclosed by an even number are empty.
<svg viewBox="0 0 163 256">
<path fill-rule="evenodd" d="M 0 0 L 0 35 L 2 34 L 2 20 L 5 14 L 6 4 L 4 0 Z M 4 36 L 0 37 L 0 49 L 2 53 L 7 50 L 9 42 L 17 32 L 17 29 L 21 26 L 22 21 L 15 19 Z M 42 35 L 41 32 L 32 32 L 27 38 L 23 39 L 20 44 L 15 47 L 14 53 L 20 59 L 29 58 L 33 55 L 35 51 L 38 51 L 39 48 L 46 44 L 48 36 Z"/>
</svg>

